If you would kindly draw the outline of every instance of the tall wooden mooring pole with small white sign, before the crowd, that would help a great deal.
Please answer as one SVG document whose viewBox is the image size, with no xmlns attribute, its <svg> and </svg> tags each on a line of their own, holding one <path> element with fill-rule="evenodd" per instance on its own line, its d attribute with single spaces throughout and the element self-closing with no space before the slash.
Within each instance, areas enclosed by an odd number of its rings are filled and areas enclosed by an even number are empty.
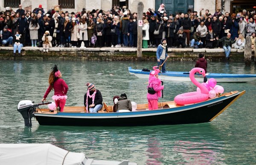
<svg viewBox="0 0 256 165">
<path fill-rule="evenodd" d="M 137 31 L 138 31 L 138 38 L 137 38 L 137 59 L 140 61 L 142 58 L 142 26 L 143 26 L 143 9 L 144 5 L 142 2 L 138 3 L 137 8 Z"/>
</svg>

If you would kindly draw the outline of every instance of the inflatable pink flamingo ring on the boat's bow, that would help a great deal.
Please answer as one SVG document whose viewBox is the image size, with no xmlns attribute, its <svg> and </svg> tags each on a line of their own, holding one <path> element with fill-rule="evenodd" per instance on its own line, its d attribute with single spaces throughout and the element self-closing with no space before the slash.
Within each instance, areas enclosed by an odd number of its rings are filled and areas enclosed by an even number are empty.
<svg viewBox="0 0 256 165">
<path fill-rule="evenodd" d="M 195 84 L 197 87 L 200 88 L 200 92 L 188 92 L 188 93 L 182 93 L 180 95 L 175 96 L 174 101 L 176 104 L 184 105 L 184 104 L 194 104 L 201 101 L 205 101 L 209 98 L 209 91 L 207 88 L 200 84 L 195 79 L 195 73 L 199 72 L 201 75 L 205 77 L 205 71 L 202 68 L 193 68 L 189 72 L 189 78 L 192 81 L 193 84 Z"/>
</svg>

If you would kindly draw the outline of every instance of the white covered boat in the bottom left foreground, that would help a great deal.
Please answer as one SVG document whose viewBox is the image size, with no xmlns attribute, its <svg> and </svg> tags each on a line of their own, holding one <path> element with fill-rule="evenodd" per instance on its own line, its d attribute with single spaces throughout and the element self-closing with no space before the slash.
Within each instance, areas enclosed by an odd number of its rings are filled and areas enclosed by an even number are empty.
<svg viewBox="0 0 256 165">
<path fill-rule="evenodd" d="M 0 165 L 137 165 L 128 160 L 94 160 L 51 144 L 0 144 Z"/>
</svg>

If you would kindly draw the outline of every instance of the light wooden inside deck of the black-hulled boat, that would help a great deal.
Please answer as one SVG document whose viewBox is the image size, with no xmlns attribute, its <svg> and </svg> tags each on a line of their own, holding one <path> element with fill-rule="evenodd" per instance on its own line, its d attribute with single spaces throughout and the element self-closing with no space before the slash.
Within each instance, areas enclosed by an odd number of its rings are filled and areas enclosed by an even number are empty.
<svg viewBox="0 0 256 165">
<path fill-rule="evenodd" d="M 238 93 L 238 91 L 233 91 L 229 93 L 223 93 L 221 96 L 216 96 L 216 97 L 223 97 L 223 96 L 230 96 L 234 93 Z M 214 99 L 214 98 L 209 98 Z M 113 113 L 113 105 L 106 105 L 103 103 L 104 106 L 102 107 L 102 110 L 99 110 L 99 113 Z M 158 103 L 158 109 L 166 109 L 166 108 L 175 108 L 175 107 L 180 107 L 184 105 L 179 105 L 176 104 L 174 101 L 166 101 L 166 102 L 159 102 Z M 137 104 L 137 111 L 145 111 L 148 110 L 148 104 Z M 84 106 L 76 106 L 76 107 L 64 107 L 64 112 L 65 113 L 86 113 L 86 108 Z M 36 113 L 46 113 L 46 114 L 56 114 L 57 111 L 54 110 L 54 112 L 49 112 L 48 108 L 38 108 Z"/>
</svg>

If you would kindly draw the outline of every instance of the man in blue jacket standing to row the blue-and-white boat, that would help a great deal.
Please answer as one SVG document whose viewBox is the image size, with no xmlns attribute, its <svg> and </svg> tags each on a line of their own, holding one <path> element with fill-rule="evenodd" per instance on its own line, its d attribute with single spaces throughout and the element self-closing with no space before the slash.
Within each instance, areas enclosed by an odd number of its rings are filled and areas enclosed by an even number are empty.
<svg viewBox="0 0 256 165">
<path fill-rule="evenodd" d="M 157 46 L 157 65 L 162 67 L 162 72 L 166 72 L 166 60 L 169 58 L 167 55 L 168 48 L 167 48 L 167 41 L 165 38 L 162 39 L 161 43 Z"/>
</svg>

